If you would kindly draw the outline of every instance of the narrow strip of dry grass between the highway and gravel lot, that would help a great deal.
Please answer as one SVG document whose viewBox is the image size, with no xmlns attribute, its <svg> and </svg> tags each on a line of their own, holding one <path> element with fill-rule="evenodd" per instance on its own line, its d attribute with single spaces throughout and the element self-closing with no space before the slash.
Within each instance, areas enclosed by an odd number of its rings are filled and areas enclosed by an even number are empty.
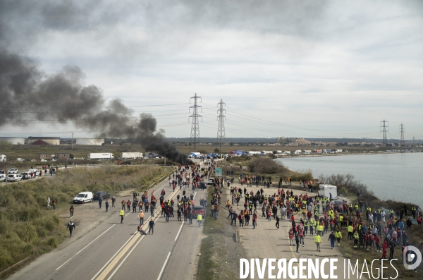
<svg viewBox="0 0 423 280">
<path fill-rule="evenodd" d="M 212 199 L 213 189 L 209 188 L 209 201 Z M 221 201 L 226 201 L 222 195 Z M 224 205 L 223 205 L 224 207 Z M 235 228 L 226 220 L 227 212 L 219 212 L 215 220 L 207 214 L 204 219 L 204 234 L 202 240 L 200 260 L 197 269 L 198 280 L 238 279 L 239 258 L 243 248 L 235 242 Z"/>
</svg>

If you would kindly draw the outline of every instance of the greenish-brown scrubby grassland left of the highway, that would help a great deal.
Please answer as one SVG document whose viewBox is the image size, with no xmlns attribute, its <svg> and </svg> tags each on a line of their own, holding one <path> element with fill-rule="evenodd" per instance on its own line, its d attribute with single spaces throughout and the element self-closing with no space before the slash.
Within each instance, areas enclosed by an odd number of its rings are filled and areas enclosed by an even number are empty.
<svg viewBox="0 0 423 280">
<path fill-rule="evenodd" d="M 68 236 L 59 219 L 80 191 L 106 190 L 111 195 L 135 188 L 141 192 L 171 174 L 160 166 L 104 166 L 63 169 L 52 178 L 2 185 L 0 188 L 0 272 L 27 257 L 57 248 Z M 57 200 L 56 212 L 47 210 L 47 197 Z"/>
</svg>

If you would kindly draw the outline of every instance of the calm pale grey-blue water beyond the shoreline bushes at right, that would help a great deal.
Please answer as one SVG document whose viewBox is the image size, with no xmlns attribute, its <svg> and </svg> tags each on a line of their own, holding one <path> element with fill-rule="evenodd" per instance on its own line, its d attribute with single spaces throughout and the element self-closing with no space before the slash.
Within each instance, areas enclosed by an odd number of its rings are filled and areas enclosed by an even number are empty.
<svg viewBox="0 0 423 280">
<path fill-rule="evenodd" d="M 412 202 L 423 207 L 423 152 L 404 154 L 357 154 L 276 159 L 294 171 L 321 174 L 352 174 L 383 200 Z"/>
</svg>

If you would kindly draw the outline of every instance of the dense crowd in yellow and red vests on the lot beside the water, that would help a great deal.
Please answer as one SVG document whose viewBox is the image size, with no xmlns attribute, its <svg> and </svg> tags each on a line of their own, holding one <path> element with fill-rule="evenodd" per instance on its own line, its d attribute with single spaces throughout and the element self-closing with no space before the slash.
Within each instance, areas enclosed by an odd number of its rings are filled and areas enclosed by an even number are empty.
<svg viewBox="0 0 423 280">
<path fill-rule="evenodd" d="M 250 187 L 250 179 L 257 182 L 257 178 L 259 176 L 245 176 L 247 188 Z M 282 181 L 281 178 L 279 182 Z M 288 180 L 286 182 L 288 185 Z M 312 183 L 302 181 L 300 185 L 306 187 Z M 297 252 L 300 246 L 304 246 L 307 235 L 313 237 L 316 250 L 320 251 L 326 235 L 331 249 L 336 244 L 341 246 L 341 240 L 344 240 L 345 245 L 351 245 L 355 250 L 374 250 L 381 253 L 379 257 L 391 260 L 395 250 L 398 250 L 396 248 L 400 247 L 403 252 L 410 245 L 408 239 L 413 227 L 410 218 L 416 219 L 417 226 L 422 224 L 421 210 L 417 207 L 408 209 L 407 205 L 395 211 L 386 211 L 381 208 L 372 209 L 371 205 L 360 199 L 355 203 L 346 200 L 334 203 L 329 197 L 309 193 L 294 195 L 293 190 L 281 188 L 281 183 L 274 195 L 264 194 L 263 188 L 257 191 L 233 185 L 228 185 L 228 188 L 231 201 L 226 201 L 226 208 L 229 210 L 227 219 L 231 219 L 233 226 L 250 226 L 252 219 L 252 227 L 255 229 L 260 210 L 260 218 L 266 221 L 273 219 L 277 230 L 279 221 L 290 221 L 289 244 L 296 245 Z M 360 198 L 360 193 L 358 197 Z M 232 205 L 240 204 L 243 205 L 243 210 L 237 213 Z M 342 235 L 341 228 L 346 230 L 348 236 Z M 423 254 L 423 242 L 420 245 Z"/>
</svg>

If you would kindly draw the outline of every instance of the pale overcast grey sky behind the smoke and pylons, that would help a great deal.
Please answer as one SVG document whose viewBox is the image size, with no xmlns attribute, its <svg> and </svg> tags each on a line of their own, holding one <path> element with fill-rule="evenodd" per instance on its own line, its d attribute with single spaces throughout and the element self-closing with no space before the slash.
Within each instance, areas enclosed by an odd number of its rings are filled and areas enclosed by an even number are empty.
<svg viewBox="0 0 423 280">
<path fill-rule="evenodd" d="M 1 1 L 1 45 L 151 112 L 168 137 L 423 138 L 422 1 Z M 34 97 L 37 98 L 37 97 Z M 54 98 L 54 97 L 52 97 Z M 0 135 L 52 135 L 32 123 Z M 50 133 L 50 134 L 49 134 Z M 70 133 L 58 133 L 70 137 Z"/>
</svg>

